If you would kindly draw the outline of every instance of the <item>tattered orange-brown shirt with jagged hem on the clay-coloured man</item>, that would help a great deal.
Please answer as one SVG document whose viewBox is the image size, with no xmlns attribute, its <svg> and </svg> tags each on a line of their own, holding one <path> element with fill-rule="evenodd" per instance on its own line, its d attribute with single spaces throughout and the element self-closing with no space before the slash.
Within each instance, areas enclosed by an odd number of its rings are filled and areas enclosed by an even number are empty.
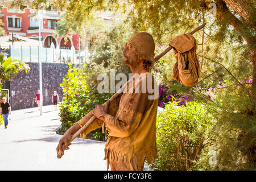
<svg viewBox="0 0 256 182">
<path fill-rule="evenodd" d="M 144 85 L 145 82 L 146 85 Z M 127 85 L 127 90 L 130 89 L 131 85 Z M 151 73 L 147 72 L 133 82 L 132 92 L 122 93 L 119 99 L 118 110 L 113 109 L 117 105 L 118 100 L 116 100 L 111 103 L 112 105 L 110 104 L 110 112 L 103 115 L 106 129 L 110 131 L 104 159 L 107 163 L 122 161 L 127 164 L 131 163 L 136 156 L 137 168 L 141 169 L 144 159 L 147 159 L 148 164 L 156 159 L 158 85 Z M 87 118 L 78 122 L 80 126 L 89 120 L 91 112 L 87 114 L 89 116 L 86 115 Z M 116 114 L 111 115 L 111 112 Z M 100 119 L 96 119 L 85 130 L 84 137 L 90 131 L 100 127 L 102 123 Z"/>
</svg>

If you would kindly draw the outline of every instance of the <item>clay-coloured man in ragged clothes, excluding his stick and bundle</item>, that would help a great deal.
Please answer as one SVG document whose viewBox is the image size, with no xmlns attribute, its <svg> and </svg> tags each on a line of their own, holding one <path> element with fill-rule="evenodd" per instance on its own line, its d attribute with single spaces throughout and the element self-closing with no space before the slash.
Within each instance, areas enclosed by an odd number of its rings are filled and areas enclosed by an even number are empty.
<svg viewBox="0 0 256 182">
<path fill-rule="evenodd" d="M 104 130 L 104 125 L 109 130 L 104 158 L 107 169 L 110 166 L 113 171 L 141 171 L 145 159 L 148 164 L 155 161 L 158 85 L 149 72 L 155 63 L 154 51 L 154 39 L 147 32 L 139 32 L 128 40 L 123 49 L 123 63 L 137 76 L 131 84 L 126 84 L 119 100 L 96 105 L 94 110 L 68 129 L 59 141 L 57 152 L 64 155 L 62 145 L 68 150 L 72 135 L 94 115 L 96 119 L 85 129 L 83 136 L 100 126 Z"/>
</svg>

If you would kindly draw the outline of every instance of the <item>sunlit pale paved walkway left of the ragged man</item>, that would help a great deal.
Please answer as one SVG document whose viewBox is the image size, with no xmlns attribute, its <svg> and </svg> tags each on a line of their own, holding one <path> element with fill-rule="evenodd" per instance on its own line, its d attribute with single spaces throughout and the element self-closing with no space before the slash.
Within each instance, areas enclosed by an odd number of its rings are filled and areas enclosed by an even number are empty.
<svg viewBox="0 0 256 182">
<path fill-rule="evenodd" d="M 8 128 L 0 125 L 0 170 L 106 170 L 105 142 L 75 139 L 61 159 L 56 147 L 62 135 L 53 105 L 15 110 Z"/>
</svg>

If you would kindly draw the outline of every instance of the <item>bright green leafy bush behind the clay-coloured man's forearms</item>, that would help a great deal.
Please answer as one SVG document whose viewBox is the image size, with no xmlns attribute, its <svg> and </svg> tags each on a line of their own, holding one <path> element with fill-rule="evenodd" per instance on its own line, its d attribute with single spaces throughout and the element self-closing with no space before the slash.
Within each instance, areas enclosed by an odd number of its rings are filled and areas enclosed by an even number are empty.
<svg viewBox="0 0 256 182">
<path fill-rule="evenodd" d="M 95 85 L 89 85 L 86 82 L 86 69 L 74 68 L 69 65 L 69 70 L 63 83 L 60 84 L 63 89 L 63 102 L 60 104 L 61 130 L 67 131 L 69 127 L 78 122 L 84 115 L 93 110 L 96 104 L 104 104 L 108 99 L 108 94 L 96 94 Z M 102 129 L 92 131 L 96 139 L 104 140 Z"/>
</svg>

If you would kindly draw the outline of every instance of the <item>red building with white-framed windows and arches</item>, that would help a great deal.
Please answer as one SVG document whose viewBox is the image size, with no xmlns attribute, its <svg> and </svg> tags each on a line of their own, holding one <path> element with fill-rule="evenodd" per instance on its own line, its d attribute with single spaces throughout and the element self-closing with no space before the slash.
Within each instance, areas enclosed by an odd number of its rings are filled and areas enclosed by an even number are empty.
<svg viewBox="0 0 256 182">
<path fill-rule="evenodd" d="M 10 8 L 11 1 L 0 1 L 0 20 L 4 23 L 3 28 L 7 35 L 18 34 L 20 36 L 33 37 L 39 36 L 39 20 L 38 10 L 31 9 L 31 2 L 24 1 L 24 5 Z M 57 21 L 60 20 L 61 11 L 53 10 L 48 7 L 43 11 L 41 36 L 43 37 L 43 47 L 50 47 L 53 43 L 55 48 L 71 49 L 73 46 L 76 51 L 80 50 L 80 40 L 78 34 L 68 36 L 65 41 L 63 37 L 54 38 L 53 34 L 56 33 Z M 38 39 L 37 39 L 38 40 Z"/>
</svg>

